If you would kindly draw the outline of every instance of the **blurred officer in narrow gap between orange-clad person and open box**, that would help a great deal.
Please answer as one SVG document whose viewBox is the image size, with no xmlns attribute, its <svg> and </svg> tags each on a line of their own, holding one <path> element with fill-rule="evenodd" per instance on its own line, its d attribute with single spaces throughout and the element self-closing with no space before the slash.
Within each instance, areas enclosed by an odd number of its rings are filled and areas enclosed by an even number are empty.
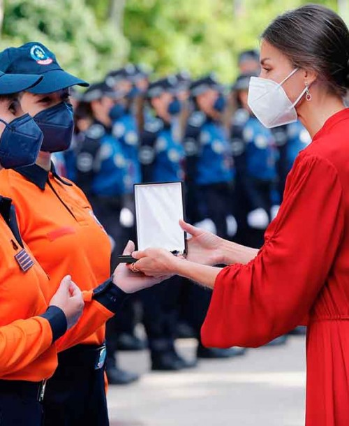
<svg viewBox="0 0 349 426">
<path fill-rule="evenodd" d="M 144 80 L 147 80 L 147 75 L 141 71 L 140 67 L 133 66 L 133 64 L 111 71 L 105 78 L 106 84 L 111 89 L 122 94 L 110 110 L 112 135 L 121 144 L 126 161 L 125 187 L 120 211 L 121 247 L 124 247 L 128 240 L 135 241 L 133 185 L 141 182 L 135 102 L 138 101 L 142 91 L 147 88 L 147 82 Z M 116 263 L 112 263 L 112 268 L 116 266 Z M 133 298 L 128 299 L 124 309 L 120 315 L 113 318 L 112 323 L 113 328 L 110 326 L 107 330 L 107 339 L 116 341 L 117 349 L 140 351 L 145 348 L 145 342 L 135 335 L 135 300 Z"/>
</svg>

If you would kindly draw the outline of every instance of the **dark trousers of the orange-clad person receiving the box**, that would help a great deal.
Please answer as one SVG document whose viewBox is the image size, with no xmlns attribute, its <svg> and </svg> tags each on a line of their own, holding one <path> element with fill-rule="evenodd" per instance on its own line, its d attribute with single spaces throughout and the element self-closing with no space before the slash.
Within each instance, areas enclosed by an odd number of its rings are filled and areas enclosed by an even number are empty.
<svg viewBox="0 0 349 426">
<path fill-rule="evenodd" d="M 43 399 L 43 425 L 109 425 L 100 354 L 97 346 L 82 344 L 58 354 L 58 367 Z"/>
</svg>

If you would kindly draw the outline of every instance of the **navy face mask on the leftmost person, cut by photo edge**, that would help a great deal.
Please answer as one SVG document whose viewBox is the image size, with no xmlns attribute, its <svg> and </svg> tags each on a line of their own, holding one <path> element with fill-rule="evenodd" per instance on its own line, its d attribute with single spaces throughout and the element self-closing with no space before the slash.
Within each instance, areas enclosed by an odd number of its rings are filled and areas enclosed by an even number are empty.
<svg viewBox="0 0 349 426">
<path fill-rule="evenodd" d="M 14 119 L 6 125 L 0 137 L 0 164 L 3 168 L 31 166 L 36 162 L 43 132 L 29 114 Z"/>
</svg>

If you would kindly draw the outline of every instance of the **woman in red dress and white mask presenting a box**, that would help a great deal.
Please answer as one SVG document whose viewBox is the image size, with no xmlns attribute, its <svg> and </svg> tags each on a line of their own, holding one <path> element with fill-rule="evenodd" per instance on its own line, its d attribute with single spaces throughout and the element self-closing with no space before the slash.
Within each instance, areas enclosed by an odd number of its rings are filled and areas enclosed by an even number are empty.
<svg viewBox="0 0 349 426">
<path fill-rule="evenodd" d="M 136 253 L 149 275 L 176 272 L 214 288 L 207 346 L 260 346 L 307 321 L 306 426 L 349 425 L 349 32 L 332 10 L 308 5 L 262 35 L 260 78 L 248 104 L 273 127 L 297 117 L 312 137 L 288 175 L 260 251 L 194 235 L 189 260 Z M 233 264 L 233 265 L 232 265 Z"/>
</svg>

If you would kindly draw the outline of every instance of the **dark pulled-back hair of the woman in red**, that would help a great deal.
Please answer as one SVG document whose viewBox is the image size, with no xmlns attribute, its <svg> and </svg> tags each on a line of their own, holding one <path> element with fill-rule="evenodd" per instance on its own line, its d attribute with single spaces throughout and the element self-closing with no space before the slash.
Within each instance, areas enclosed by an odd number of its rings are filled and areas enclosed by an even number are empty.
<svg viewBox="0 0 349 426">
<path fill-rule="evenodd" d="M 308 4 L 276 17 L 262 38 L 292 64 L 311 68 L 340 96 L 349 88 L 349 31 L 333 10 Z"/>
</svg>

